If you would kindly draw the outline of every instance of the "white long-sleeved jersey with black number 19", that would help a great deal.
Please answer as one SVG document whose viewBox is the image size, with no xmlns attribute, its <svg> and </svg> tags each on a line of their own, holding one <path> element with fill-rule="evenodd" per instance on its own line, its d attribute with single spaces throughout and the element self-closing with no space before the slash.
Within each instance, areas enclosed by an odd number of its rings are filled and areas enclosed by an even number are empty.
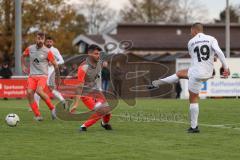
<svg viewBox="0 0 240 160">
<path fill-rule="evenodd" d="M 188 76 L 198 79 L 209 79 L 213 73 L 214 55 L 228 68 L 225 56 L 220 49 L 217 40 L 204 33 L 198 33 L 188 42 L 188 51 L 191 56 L 191 66 L 188 70 Z"/>
</svg>

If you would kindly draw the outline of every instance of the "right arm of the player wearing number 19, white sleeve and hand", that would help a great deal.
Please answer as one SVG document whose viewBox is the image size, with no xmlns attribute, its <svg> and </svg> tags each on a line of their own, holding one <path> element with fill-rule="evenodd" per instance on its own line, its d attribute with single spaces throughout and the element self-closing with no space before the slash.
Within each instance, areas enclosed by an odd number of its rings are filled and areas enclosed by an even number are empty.
<svg viewBox="0 0 240 160">
<path fill-rule="evenodd" d="M 227 62 L 226 62 L 226 58 L 225 58 L 221 48 L 219 47 L 216 39 L 214 39 L 213 42 L 212 42 L 212 48 L 215 51 L 215 53 L 217 54 L 219 60 L 222 63 L 222 66 L 224 68 L 223 76 L 227 78 L 230 74 L 230 71 L 229 71 L 229 68 L 228 68 L 228 65 L 227 65 Z"/>
</svg>

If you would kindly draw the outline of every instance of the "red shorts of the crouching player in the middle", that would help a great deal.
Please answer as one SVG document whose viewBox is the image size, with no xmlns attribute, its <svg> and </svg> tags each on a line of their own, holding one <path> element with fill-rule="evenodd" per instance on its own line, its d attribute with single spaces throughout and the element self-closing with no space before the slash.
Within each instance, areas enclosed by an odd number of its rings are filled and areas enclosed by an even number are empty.
<svg viewBox="0 0 240 160">
<path fill-rule="evenodd" d="M 83 96 L 83 97 L 81 97 L 81 100 L 90 110 L 93 110 L 97 103 L 105 103 L 106 102 L 104 97 L 94 98 L 91 96 Z"/>
</svg>

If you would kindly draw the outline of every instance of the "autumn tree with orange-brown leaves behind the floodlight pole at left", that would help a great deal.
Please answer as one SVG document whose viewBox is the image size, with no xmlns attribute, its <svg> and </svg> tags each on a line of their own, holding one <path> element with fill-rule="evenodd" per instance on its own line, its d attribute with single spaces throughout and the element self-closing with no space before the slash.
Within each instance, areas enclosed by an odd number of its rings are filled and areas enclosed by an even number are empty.
<svg viewBox="0 0 240 160">
<path fill-rule="evenodd" d="M 0 20 L 0 53 L 6 61 L 11 59 L 14 51 L 13 0 L 0 0 Z M 35 32 L 44 31 L 54 37 L 62 53 L 74 54 L 72 40 L 84 33 L 85 27 L 84 16 L 64 0 L 22 1 L 23 48 L 34 43 Z"/>
</svg>

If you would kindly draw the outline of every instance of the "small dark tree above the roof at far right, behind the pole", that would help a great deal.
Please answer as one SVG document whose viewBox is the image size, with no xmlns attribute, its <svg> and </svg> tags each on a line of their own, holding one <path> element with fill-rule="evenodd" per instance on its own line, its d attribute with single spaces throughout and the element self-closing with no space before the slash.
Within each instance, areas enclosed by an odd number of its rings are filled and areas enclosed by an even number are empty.
<svg viewBox="0 0 240 160">
<path fill-rule="evenodd" d="M 225 15 L 226 9 L 220 12 L 219 19 L 215 19 L 216 23 L 225 23 L 226 15 Z M 230 22 L 231 23 L 239 23 L 240 20 L 240 7 L 234 7 L 229 6 L 229 13 L 230 13 Z"/>
</svg>

